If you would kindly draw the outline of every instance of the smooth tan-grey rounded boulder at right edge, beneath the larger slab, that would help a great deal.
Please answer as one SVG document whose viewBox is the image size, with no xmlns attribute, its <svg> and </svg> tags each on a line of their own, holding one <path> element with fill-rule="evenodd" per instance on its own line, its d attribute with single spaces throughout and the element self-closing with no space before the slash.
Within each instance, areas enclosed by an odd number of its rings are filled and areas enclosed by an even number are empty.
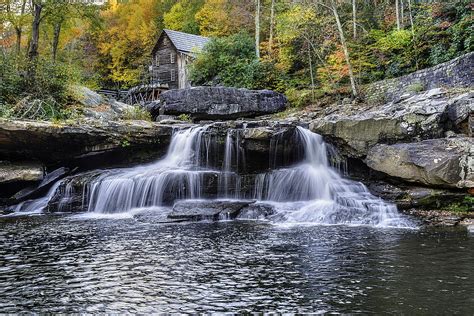
<svg viewBox="0 0 474 316">
<path fill-rule="evenodd" d="M 389 176 L 429 186 L 474 187 L 474 140 L 440 138 L 372 147 L 367 165 Z"/>
</svg>

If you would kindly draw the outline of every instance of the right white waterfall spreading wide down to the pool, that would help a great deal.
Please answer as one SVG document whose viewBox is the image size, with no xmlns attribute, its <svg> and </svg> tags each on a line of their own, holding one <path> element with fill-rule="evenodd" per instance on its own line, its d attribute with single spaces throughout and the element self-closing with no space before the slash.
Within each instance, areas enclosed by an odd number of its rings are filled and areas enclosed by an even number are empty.
<svg viewBox="0 0 474 316">
<path fill-rule="evenodd" d="M 278 216 L 288 222 L 411 227 L 395 205 L 372 195 L 360 182 L 343 179 L 330 168 L 326 144 L 318 134 L 297 127 L 303 144 L 301 163 L 260 174 L 254 197 L 283 203 Z"/>
</svg>

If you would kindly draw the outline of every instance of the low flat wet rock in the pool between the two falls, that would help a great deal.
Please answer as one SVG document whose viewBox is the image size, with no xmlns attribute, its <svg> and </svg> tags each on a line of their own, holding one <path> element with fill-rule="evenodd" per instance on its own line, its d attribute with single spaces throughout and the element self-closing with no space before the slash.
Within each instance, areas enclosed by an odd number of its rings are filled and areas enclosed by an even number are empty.
<svg viewBox="0 0 474 316">
<path fill-rule="evenodd" d="M 252 203 L 252 201 L 178 201 L 174 204 L 173 211 L 168 214 L 168 218 L 187 219 L 191 221 L 233 219 L 250 203 Z"/>
</svg>

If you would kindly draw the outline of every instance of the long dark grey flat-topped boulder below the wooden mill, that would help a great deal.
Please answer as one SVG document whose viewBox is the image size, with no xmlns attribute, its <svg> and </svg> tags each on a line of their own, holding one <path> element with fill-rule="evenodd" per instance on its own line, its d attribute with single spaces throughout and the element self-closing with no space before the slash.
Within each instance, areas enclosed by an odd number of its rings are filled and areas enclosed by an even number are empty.
<svg viewBox="0 0 474 316">
<path fill-rule="evenodd" d="M 195 87 L 165 91 L 147 106 L 155 114 L 188 114 L 195 119 L 235 119 L 272 114 L 285 109 L 284 95 L 270 90 Z"/>
</svg>

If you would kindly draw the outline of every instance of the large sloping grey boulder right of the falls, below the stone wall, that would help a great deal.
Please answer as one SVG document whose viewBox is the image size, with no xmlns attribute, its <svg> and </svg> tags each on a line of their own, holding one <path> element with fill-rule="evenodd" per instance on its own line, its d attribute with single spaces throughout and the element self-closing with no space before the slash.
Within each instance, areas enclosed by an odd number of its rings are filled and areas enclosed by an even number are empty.
<svg viewBox="0 0 474 316">
<path fill-rule="evenodd" d="M 382 106 L 336 109 L 313 120 L 310 129 L 337 144 L 346 156 L 363 158 L 379 143 L 439 138 L 449 130 L 467 133 L 473 103 L 473 93 L 451 95 L 433 89 Z"/>
</svg>

